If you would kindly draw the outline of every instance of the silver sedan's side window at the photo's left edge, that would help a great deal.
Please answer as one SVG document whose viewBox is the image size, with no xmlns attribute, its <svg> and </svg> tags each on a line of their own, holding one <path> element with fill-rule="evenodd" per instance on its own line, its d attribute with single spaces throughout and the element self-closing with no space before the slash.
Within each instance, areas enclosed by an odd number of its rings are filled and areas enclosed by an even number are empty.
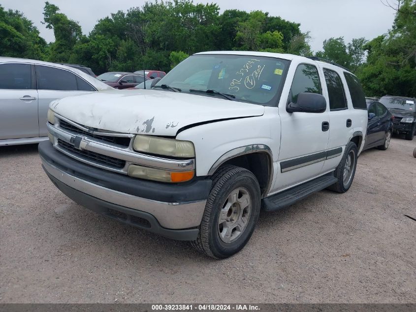
<svg viewBox="0 0 416 312">
<path fill-rule="evenodd" d="M 30 64 L 1 64 L 0 89 L 25 90 L 32 88 Z"/>
</svg>

